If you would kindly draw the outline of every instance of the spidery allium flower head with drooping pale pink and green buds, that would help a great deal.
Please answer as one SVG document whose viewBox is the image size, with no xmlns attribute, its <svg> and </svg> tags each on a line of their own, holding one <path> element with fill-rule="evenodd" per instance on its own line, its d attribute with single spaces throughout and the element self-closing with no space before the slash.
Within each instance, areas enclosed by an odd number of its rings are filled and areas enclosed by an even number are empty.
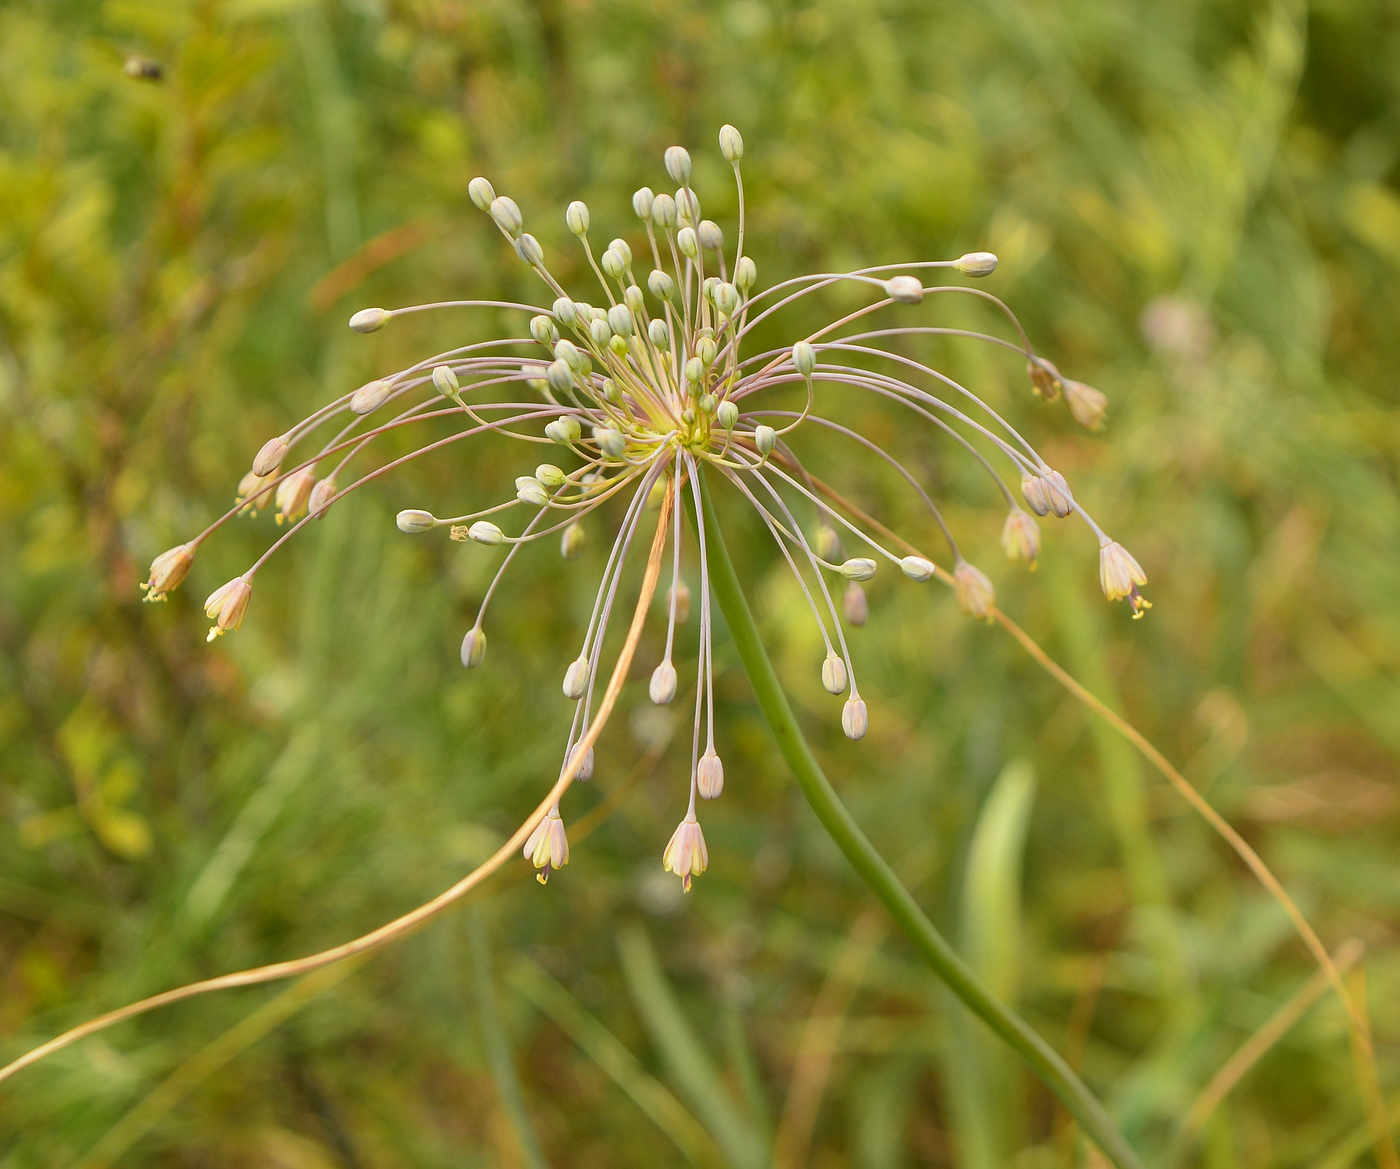
<svg viewBox="0 0 1400 1169">
<path fill-rule="evenodd" d="M 665 648 L 652 665 L 648 690 L 652 701 L 665 704 L 692 689 L 690 679 L 676 668 L 676 631 L 686 626 L 692 609 L 692 591 L 682 580 L 689 497 L 694 503 L 696 564 L 687 568 L 697 581 L 699 609 L 693 638 L 686 638 L 696 647 L 689 801 L 664 853 L 666 869 L 678 874 L 687 889 L 708 864 L 696 818 L 697 797 L 713 799 L 724 787 L 724 766 L 715 749 L 701 475 L 717 490 L 725 490 L 729 503 L 752 511 L 794 574 L 822 641 L 822 657 L 812 669 L 841 701 L 841 728 L 851 739 L 861 739 L 869 728 L 869 710 L 860 694 L 847 640 L 847 627 L 862 626 L 868 617 L 861 582 L 888 574 L 895 582 L 890 588 L 920 588 L 938 577 L 953 587 L 967 613 L 988 620 L 995 616 L 991 580 L 963 557 L 920 477 L 833 413 L 844 400 L 841 395 L 853 389 L 889 405 L 900 412 L 907 428 L 951 444 L 987 473 L 1008 512 L 1002 545 L 1011 559 L 1033 563 L 1040 543 L 1035 521 L 1021 508 L 1004 475 L 1012 483 L 1019 480 L 1036 515 L 1084 519 L 1103 549 L 1100 580 L 1107 596 L 1127 598 L 1135 615 L 1147 608 L 1137 592 L 1145 582 L 1141 567 L 1075 501 L 1064 476 L 973 391 L 909 356 L 907 343 L 920 337 L 972 339 L 1007 350 L 1026 363 L 1030 388 L 1039 396 L 1053 402 L 1063 395 L 1081 423 L 1102 423 L 1105 399 L 1098 391 L 1063 378 L 1039 357 L 997 297 L 956 283 L 990 274 L 997 258 L 969 252 L 949 260 L 795 276 L 762 287 L 757 266 L 746 252 L 741 176 L 745 146 L 735 127 L 720 132 L 720 151 L 738 186 L 732 242 L 729 228 L 703 217 L 700 196 L 690 186 L 692 158 L 679 146 L 668 148 L 664 160 L 673 190 L 657 193 L 644 186 L 633 195 L 637 224 L 630 241 L 617 238 L 605 246 L 594 241 L 589 209 L 578 200 L 568 204 L 564 225 L 596 281 L 589 293 L 566 290 L 543 245 L 525 231 L 519 204 L 498 195 L 487 179 L 473 179 L 473 204 L 539 279 L 540 304 L 459 300 L 354 314 L 350 328 L 360 333 L 378 332 L 405 314 L 445 308 L 504 311 L 507 318 L 517 315 L 519 328 L 510 336 L 426 356 L 346 392 L 270 438 L 244 476 L 234 508 L 213 528 L 241 512 L 256 514 L 272 497 L 277 522 L 290 529 L 248 573 L 206 603 L 216 620 L 211 638 L 238 629 L 253 575 L 273 550 L 323 514 L 333 500 L 412 459 L 468 440 L 496 437 L 526 444 L 514 490 L 504 498 L 480 500 L 476 510 L 452 517 L 407 508 L 398 514 L 396 524 L 406 533 L 447 528 L 452 539 L 480 545 L 477 554 L 497 557 L 494 577 L 462 640 L 462 664 L 468 668 L 484 664 L 487 610 L 521 549 L 557 540 L 563 557 L 574 560 L 592 533 L 610 532 L 581 645 L 570 655 L 561 679 L 563 700 L 574 704 L 561 778 L 587 778 L 585 773 L 592 771 L 592 741 L 601 729 L 589 731 L 599 679 L 606 673 L 605 637 L 634 561 L 634 538 L 644 524 L 650 525 L 658 504 L 668 511 L 657 517 L 662 528 L 652 540 L 648 580 L 655 580 L 664 557 L 669 561 L 669 588 L 658 594 L 664 598 L 657 608 L 665 622 Z M 939 274 L 955 283 L 931 279 Z M 778 347 L 755 346 L 759 326 L 781 326 L 784 309 L 837 284 L 865 294 L 864 302 Z M 1009 325 L 1009 336 L 939 323 L 937 305 L 946 297 L 976 298 Z M 841 393 L 833 393 L 837 388 Z M 409 454 L 354 477 L 351 463 L 372 455 L 375 441 L 391 433 L 427 437 Z M 843 484 L 815 477 L 797 441 L 818 437 L 827 448 L 848 454 L 848 466 L 886 469 L 907 484 L 927 515 L 928 532 L 941 540 L 938 554 L 951 567 L 941 567 L 927 552 L 850 504 L 841 494 Z M 542 451 L 547 452 L 545 462 L 539 462 Z M 193 549 L 207 535 L 157 557 L 147 582 L 151 599 L 179 584 Z M 885 566 L 886 573 L 881 573 Z M 610 706 L 598 701 L 598 708 L 602 720 Z M 585 738 L 587 757 L 580 759 L 575 748 L 584 748 Z M 525 855 L 540 871 L 540 879 L 567 862 L 568 841 L 557 802 L 529 837 Z"/>
</svg>

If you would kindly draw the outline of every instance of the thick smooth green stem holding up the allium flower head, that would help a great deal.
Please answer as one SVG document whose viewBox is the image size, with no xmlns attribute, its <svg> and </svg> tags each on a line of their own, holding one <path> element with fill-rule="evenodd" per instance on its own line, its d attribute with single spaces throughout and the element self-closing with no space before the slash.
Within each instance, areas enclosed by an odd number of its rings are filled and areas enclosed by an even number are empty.
<svg viewBox="0 0 1400 1169">
<path fill-rule="evenodd" d="M 979 981 L 977 976 L 965 963 L 942 934 L 934 928 L 918 903 L 910 892 L 895 876 L 895 871 L 885 862 L 885 858 L 875 851 L 875 847 L 865 839 L 865 833 L 851 819 L 846 811 L 822 766 L 812 755 L 798 727 L 792 707 L 787 694 L 778 683 L 773 662 L 759 640 L 757 626 L 753 623 L 753 613 L 749 602 L 739 585 L 739 578 L 734 571 L 734 561 L 724 543 L 720 531 L 720 518 L 715 514 L 708 484 L 701 484 L 700 491 L 704 505 L 706 546 L 710 559 L 710 587 L 714 589 L 720 612 L 729 626 L 735 648 L 739 651 L 739 661 L 749 675 L 753 694 L 759 700 L 759 708 L 767 720 L 773 736 L 778 741 L 778 749 L 787 760 L 798 787 L 806 797 L 822 827 L 846 854 L 846 860 L 869 886 L 869 890 L 879 897 L 895 918 L 904 935 L 924 960 L 934 969 L 934 973 L 956 994 L 963 1004 L 988 1028 L 991 1028 L 1021 1058 L 1023 1058 L 1039 1075 L 1046 1086 L 1060 1098 L 1060 1102 L 1070 1110 L 1084 1131 L 1103 1151 L 1105 1156 L 1117 1169 L 1142 1169 L 1137 1154 L 1128 1142 L 1113 1127 L 1103 1106 L 1093 1098 L 1084 1082 L 1074 1074 L 1074 1070 L 1060 1057 L 1060 1054 L 1042 1039 L 1030 1025 L 1016 1015 L 1005 1004 L 1000 1002 Z"/>
</svg>

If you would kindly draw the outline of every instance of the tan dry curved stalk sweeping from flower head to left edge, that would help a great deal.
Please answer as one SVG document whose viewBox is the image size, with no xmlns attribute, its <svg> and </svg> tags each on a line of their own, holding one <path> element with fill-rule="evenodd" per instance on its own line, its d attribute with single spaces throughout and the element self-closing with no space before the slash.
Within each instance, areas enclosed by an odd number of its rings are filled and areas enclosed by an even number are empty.
<svg viewBox="0 0 1400 1169">
<path fill-rule="evenodd" d="M 668 504 L 671 501 L 672 491 L 675 491 L 673 477 L 666 482 Z M 343 942 L 339 946 L 332 946 L 330 949 L 308 955 L 307 958 L 294 958 L 288 962 L 274 962 L 269 966 L 255 966 L 251 970 L 238 970 L 232 974 L 220 974 L 216 979 L 204 979 L 197 983 L 189 983 L 182 987 L 175 987 L 174 990 L 162 991 L 161 994 L 154 994 L 150 998 L 130 1002 L 126 1007 L 119 1007 L 116 1011 L 108 1011 L 105 1015 L 98 1015 L 95 1019 L 88 1019 L 88 1022 L 71 1028 L 63 1032 L 63 1035 L 55 1036 L 48 1043 L 42 1043 L 41 1046 L 22 1054 L 20 1058 L 6 1064 L 0 1068 L 0 1081 L 8 1079 L 15 1072 L 29 1067 L 29 1064 L 35 1064 L 46 1056 L 52 1056 L 55 1051 L 60 1051 L 62 1049 L 77 1043 L 80 1039 L 85 1039 L 99 1030 L 105 1030 L 106 1028 L 123 1022 L 125 1019 L 133 1019 L 137 1015 L 144 1015 L 147 1011 L 154 1011 L 158 1007 L 168 1007 L 172 1002 L 182 1002 L 186 998 L 195 998 L 196 995 L 209 994 L 216 990 L 232 990 L 234 987 L 248 987 L 258 986 L 260 983 L 273 983 L 281 979 L 293 979 L 298 974 L 308 974 L 312 970 L 319 970 L 323 966 L 342 962 L 346 958 L 353 958 L 357 953 L 367 953 L 378 949 L 379 946 L 388 945 L 389 942 L 413 932 L 486 881 L 486 878 L 504 865 L 505 861 L 508 861 L 525 844 L 525 840 L 535 830 L 536 825 L 545 819 L 545 815 L 554 805 L 554 802 L 568 790 L 568 785 L 574 781 L 574 776 L 578 773 L 578 767 L 582 764 L 588 750 L 598 742 L 598 736 L 602 734 L 603 727 L 608 725 L 608 718 L 612 715 L 613 707 L 617 703 L 617 696 L 622 693 L 623 683 L 627 680 L 627 672 L 631 668 L 631 659 L 637 651 L 637 641 L 641 638 L 641 629 L 647 620 L 647 610 L 651 608 L 651 599 L 657 591 L 657 578 L 661 574 L 661 559 L 665 550 L 666 528 L 669 521 L 671 508 L 662 507 L 661 515 L 657 521 L 657 533 L 651 540 L 651 553 L 647 557 L 647 571 L 641 580 L 641 595 L 637 598 L 637 608 L 633 610 L 631 624 L 627 629 L 627 640 L 623 643 L 622 651 L 617 655 L 617 662 L 613 666 L 612 678 L 608 680 L 608 689 L 603 693 L 602 701 L 598 704 L 598 714 L 594 717 L 592 724 L 580 741 L 580 749 L 570 756 L 570 760 L 559 780 L 549 790 L 549 794 L 539 802 L 539 806 L 536 806 L 535 811 L 525 818 L 525 822 L 515 829 L 510 840 L 491 854 L 490 860 L 477 865 L 472 869 L 472 872 L 458 881 L 456 885 L 442 893 L 438 893 L 433 900 L 423 903 L 417 909 L 386 923 L 385 925 L 381 925 L 378 930 L 372 930 L 371 932 L 364 934 L 360 938 L 354 938 L 353 941 Z"/>
</svg>

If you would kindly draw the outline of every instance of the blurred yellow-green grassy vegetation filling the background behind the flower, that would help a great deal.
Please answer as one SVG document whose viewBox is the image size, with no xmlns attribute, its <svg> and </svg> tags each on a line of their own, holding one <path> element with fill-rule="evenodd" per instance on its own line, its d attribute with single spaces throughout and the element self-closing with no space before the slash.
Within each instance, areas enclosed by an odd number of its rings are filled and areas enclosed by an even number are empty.
<svg viewBox="0 0 1400 1169">
<path fill-rule="evenodd" d="M 1000 559 L 974 466 L 904 454 L 1005 609 L 1182 766 L 1330 948 L 1365 942 L 1400 1114 L 1397 60 L 1382 0 L 6 0 L 6 1058 L 365 932 L 540 798 L 602 525 L 581 561 L 522 554 L 468 675 L 456 643 L 496 556 L 392 521 L 498 497 L 515 448 L 451 448 L 339 504 L 214 645 L 197 602 L 269 543 L 266 514 L 210 542 L 169 603 L 137 582 L 315 405 L 519 329 L 344 328 L 364 305 L 536 295 L 473 175 L 581 279 L 567 200 L 596 237 L 633 234 L 630 192 L 664 182 L 673 141 L 732 231 L 728 120 L 760 286 L 987 248 L 984 287 L 1109 393 L 1086 435 L 1009 356 L 930 347 L 1137 553 L 1142 622 L 1103 602 L 1082 529 L 1047 522 L 1028 575 Z M 846 409 L 903 441 L 878 405 Z M 882 469 L 823 442 L 819 473 L 938 552 Z M 1373 1163 L 1329 997 L 1194 1131 L 1203 1088 L 1313 966 L 1170 788 L 1001 630 L 883 577 L 854 633 L 871 734 L 846 742 L 799 594 L 725 515 L 857 819 L 1147 1163 Z M 636 787 L 546 889 L 517 862 L 368 963 L 60 1053 L 0 1089 L 0 1165 L 1095 1163 L 822 836 L 722 636 L 711 867 L 687 897 L 661 872 L 686 783 L 645 703 L 662 636 L 566 816 Z"/>
</svg>

